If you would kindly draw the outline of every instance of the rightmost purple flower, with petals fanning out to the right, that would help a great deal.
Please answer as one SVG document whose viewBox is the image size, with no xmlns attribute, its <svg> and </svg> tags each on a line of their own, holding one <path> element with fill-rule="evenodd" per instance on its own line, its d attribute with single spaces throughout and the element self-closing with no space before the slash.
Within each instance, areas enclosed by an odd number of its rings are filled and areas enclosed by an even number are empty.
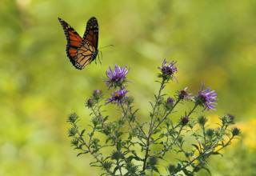
<svg viewBox="0 0 256 176">
<path fill-rule="evenodd" d="M 202 86 L 202 90 L 198 91 L 198 96 L 196 98 L 196 103 L 198 105 L 204 106 L 205 110 L 215 110 L 217 101 L 217 93 L 215 90 L 210 90 L 207 88 L 204 90 L 204 86 Z"/>
</svg>

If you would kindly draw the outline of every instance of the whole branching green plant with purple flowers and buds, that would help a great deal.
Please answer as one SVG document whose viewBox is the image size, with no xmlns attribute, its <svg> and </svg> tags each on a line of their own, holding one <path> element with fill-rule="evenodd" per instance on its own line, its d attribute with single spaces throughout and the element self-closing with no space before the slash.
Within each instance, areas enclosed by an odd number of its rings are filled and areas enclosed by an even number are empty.
<svg viewBox="0 0 256 176">
<path fill-rule="evenodd" d="M 110 97 L 104 98 L 101 90 L 94 90 L 86 99 L 86 107 L 91 112 L 90 126 L 81 128 L 78 115 L 70 114 L 71 145 L 78 150 L 78 155 L 90 154 L 94 158 L 90 166 L 101 167 L 102 175 L 194 175 L 199 170 L 208 170 L 206 163 L 210 156 L 220 154 L 241 134 L 241 130 L 233 126 L 234 116 L 230 114 L 219 119 L 218 128 L 208 127 L 208 118 L 203 113 L 204 110 L 216 110 L 215 90 L 202 86 L 193 96 L 186 87 L 170 95 L 164 91 L 178 71 L 176 62 L 164 59 L 158 69 L 160 86 L 154 101 L 150 102 L 148 117 L 138 117 L 138 109 L 134 109 L 136 98 L 127 96 L 128 70 L 118 65 L 114 70 L 111 67 L 106 70 L 105 82 L 112 92 Z M 106 112 L 110 103 L 119 113 L 115 121 Z M 192 104 L 192 108 L 184 108 L 186 103 Z M 182 115 L 175 120 L 174 112 L 178 110 Z M 194 119 L 196 110 L 202 114 Z M 106 140 L 100 140 L 99 135 Z M 103 150 L 109 152 L 106 154 Z M 166 154 L 178 157 L 170 158 Z M 160 167 L 166 170 L 159 170 Z"/>
</svg>

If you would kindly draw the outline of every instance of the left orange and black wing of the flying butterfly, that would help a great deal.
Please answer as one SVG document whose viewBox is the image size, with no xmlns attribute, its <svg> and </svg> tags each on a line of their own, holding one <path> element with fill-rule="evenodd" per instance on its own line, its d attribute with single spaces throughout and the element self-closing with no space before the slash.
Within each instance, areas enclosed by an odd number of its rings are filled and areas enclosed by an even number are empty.
<svg viewBox="0 0 256 176">
<path fill-rule="evenodd" d="M 66 54 L 67 57 L 70 58 L 70 62 L 75 66 L 77 69 L 81 70 L 82 68 L 78 66 L 78 49 L 82 45 L 82 38 L 80 35 L 71 27 L 67 22 L 58 18 L 58 21 L 62 24 L 63 30 L 66 35 Z"/>
</svg>

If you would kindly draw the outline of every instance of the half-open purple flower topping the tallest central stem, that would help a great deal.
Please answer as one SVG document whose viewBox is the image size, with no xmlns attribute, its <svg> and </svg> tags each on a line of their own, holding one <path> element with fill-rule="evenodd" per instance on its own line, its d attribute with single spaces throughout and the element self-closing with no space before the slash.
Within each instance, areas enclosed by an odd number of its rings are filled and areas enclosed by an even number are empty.
<svg viewBox="0 0 256 176">
<path fill-rule="evenodd" d="M 162 62 L 162 67 L 158 67 L 161 70 L 162 74 L 159 74 L 159 77 L 170 79 L 173 75 L 178 71 L 177 67 L 175 66 L 174 61 L 166 62 L 166 59 Z"/>
</svg>

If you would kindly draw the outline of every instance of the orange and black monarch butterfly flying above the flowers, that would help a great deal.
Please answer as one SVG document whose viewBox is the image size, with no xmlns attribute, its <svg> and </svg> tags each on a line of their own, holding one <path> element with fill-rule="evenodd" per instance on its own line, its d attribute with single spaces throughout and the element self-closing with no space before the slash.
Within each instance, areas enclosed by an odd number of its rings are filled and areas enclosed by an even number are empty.
<svg viewBox="0 0 256 176">
<path fill-rule="evenodd" d="M 83 38 L 62 18 L 58 18 L 58 21 L 66 35 L 66 55 L 76 69 L 82 70 L 93 62 L 98 54 L 97 18 L 92 17 L 88 20 Z"/>
</svg>

